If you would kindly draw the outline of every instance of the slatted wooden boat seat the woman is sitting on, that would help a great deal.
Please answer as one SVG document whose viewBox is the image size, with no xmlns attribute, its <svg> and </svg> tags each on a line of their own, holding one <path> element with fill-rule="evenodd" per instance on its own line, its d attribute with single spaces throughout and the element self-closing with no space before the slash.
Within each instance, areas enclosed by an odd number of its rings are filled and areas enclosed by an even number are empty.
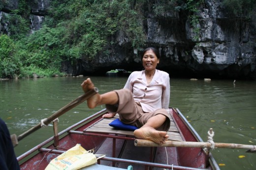
<svg viewBox="0 0 256 170">
<path fill-rule="evenodd" d="M 172 112 L 172 109 L 170 109 L 170 112 Z M 113 134 L 115 135 L 125 135 L 130 136 L 131 140 L 135 137 L 133 136 L 133 131 L 128 130 L 121 130 L 114 127 L 109 126 L 109 123 L 111 123 L 113 120 L 117 119 L 119 117 L 118 114 L 116 114 L 113 118 L 102 118 L 92 126 L 84 129 L 84 133 L 104 133 L 104 134 Z M 175 121 L 173 120 L 171 114 L 169 114 L 169 118 L 171 121 L 170 128 L 167 132 L 169 135 L 169 140 L 172 141 L 185 141 L 183 135 L 180 133 L 179 129 L 176 126 Z M 114 137 L 113 137 L 114 138 Z"/>
</svg>

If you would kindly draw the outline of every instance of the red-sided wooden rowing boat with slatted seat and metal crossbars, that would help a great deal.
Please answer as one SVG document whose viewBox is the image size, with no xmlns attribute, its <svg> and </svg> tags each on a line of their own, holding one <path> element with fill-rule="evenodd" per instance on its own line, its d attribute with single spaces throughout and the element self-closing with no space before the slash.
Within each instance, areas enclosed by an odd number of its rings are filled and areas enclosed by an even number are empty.
<svg viewBox="0 0 256 170">
<path fill-rule="evenodd" d="M 169 139 L 182 142 L 202 142 L 178 109 L 170 108 L 171 127 Z M 97 164 L 84 170 L 123 170 L 131 165 L 133 170 L 219 170 L 219 166 L 209 152 L 200 147 L 141 147 L 135 146 L 132 131 L 110 127 L 114 120 L 103 119 L 104 109 L 68 127 L 54 137 L 36 145 L 19 156 L 21 170 L 44 170 L 49 162 L 65 150 L 80 143 L 95 154 L 105 154 Z M 62 149 L 60 149 L 62 148 Z"/>
</svg>

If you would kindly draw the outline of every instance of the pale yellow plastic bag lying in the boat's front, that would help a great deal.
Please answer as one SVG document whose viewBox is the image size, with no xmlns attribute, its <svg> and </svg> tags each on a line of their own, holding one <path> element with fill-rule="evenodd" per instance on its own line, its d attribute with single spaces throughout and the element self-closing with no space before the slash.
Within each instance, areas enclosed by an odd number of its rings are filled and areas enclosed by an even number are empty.
<svg viewBox="0 0 256 170">
<path fill-rule="evenodd" d="M 101 155 L 101 157 L 104 156 L 105 155 Z M 80 144 L 76 144 L 74 147 L 53 159 L 45 170 L 78 170 L 95 164 L 96 162 L 97 158 L 92 150 L 87 151 Z"/>
</svg>

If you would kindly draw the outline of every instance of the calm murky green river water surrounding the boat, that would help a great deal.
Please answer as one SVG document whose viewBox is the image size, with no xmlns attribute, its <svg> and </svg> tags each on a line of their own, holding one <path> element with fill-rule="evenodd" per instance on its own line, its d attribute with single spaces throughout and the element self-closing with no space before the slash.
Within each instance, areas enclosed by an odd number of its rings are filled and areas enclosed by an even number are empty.
<svg viewBox="0 0 256 170">
<path fill-rule="evenodd" d="M 123 88 L 127 78 L 91 77 L 100 93 Z M 43 78 L 0 81 L 0 117 L 11 134 L 20 135 L 83 94 L 84 78 Z M 170 107 L 178 108 L 194 129 L 207 141 L 213 128 L 215 142 L 256 145 L 256 82 L 230 80 L 190 81 L 172 79 Z M 86 103 L 59 117 L 59 131 L 102 110 L 87 108 Z M 40 129 L 21 140 L 16 156 L 53 136 L 52 127 Z M 255 170 L 256 154 L 245 149 L 212 151 L 222 170 Z M 245 156 L 239 158 L 239 156 Z"/>
</svg>

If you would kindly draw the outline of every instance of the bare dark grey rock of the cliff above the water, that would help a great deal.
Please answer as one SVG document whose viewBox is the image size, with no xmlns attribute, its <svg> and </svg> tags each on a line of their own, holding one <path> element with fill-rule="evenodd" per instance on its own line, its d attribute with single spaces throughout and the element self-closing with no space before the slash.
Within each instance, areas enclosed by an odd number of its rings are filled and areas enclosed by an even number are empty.
<svg viewBox="0 0 256 170">
<path fill-rule="evenodd" d="M 51 0 L 29 0 L 31 28 L 38 30 L 44 20 Z M 8 22 L 1 16 L 17 9 L 18 0 L 3 4 L 0 12 L 0 32 L 8 34 Z M 183 13 L 170 12 L 164 16 L 144 14 L 147 46 L 160 50 L 158 66 L 172 75 L 187 75 L 191 78 L 250 78 L 256 79 L 256 19 L 228 18 L 221 8 L 220 0 L 205 0 L 201 7 L 199 32 L 194 33 L 189 19 Z M 197 38 L 195 38 L 197 37 Z M 99 53 L 93 60 L 81 57 L 74 65 L 63 62 L 63 71 L 69 75 L 96 74 L 111 69 L 141 70 L 139 54 L 133 49 L 124 32 L 116 34 L 117 45 L 109 55 Z"/>
</svg>

